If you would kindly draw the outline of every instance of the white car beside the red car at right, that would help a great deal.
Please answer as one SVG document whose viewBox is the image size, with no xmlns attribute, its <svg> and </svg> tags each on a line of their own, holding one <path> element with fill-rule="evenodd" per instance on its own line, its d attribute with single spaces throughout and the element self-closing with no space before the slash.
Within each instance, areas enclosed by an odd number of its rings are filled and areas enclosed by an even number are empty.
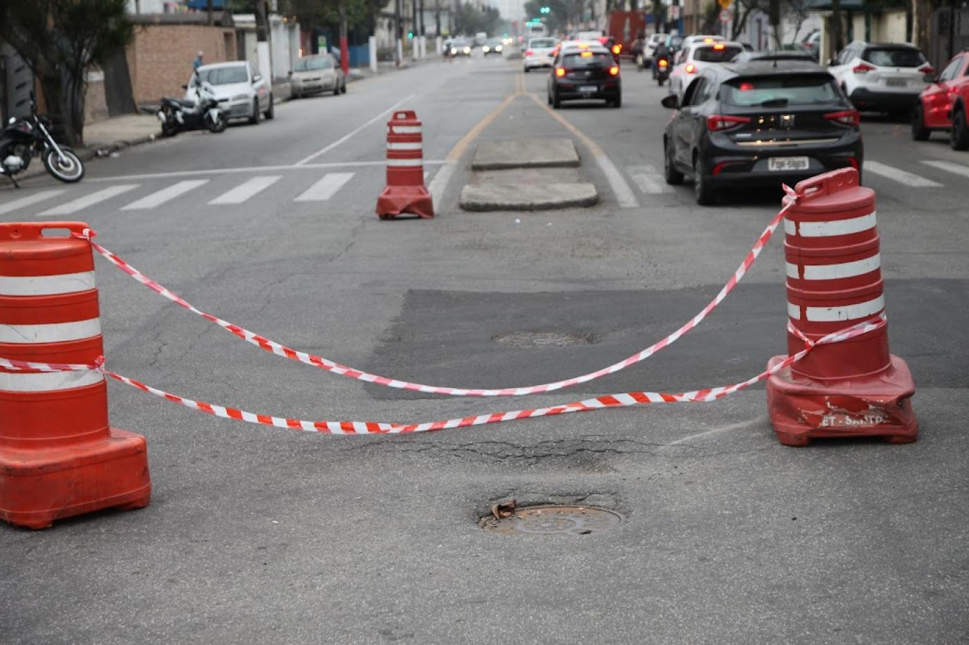
<svg viewBox="0 0 969 645">
<path fill-rule="evenodd" d="M 852 43 L 828 62 L 828 72 L 858 109 L 907 114 L 934 70 L 914 45 Z"/>
</svg>

